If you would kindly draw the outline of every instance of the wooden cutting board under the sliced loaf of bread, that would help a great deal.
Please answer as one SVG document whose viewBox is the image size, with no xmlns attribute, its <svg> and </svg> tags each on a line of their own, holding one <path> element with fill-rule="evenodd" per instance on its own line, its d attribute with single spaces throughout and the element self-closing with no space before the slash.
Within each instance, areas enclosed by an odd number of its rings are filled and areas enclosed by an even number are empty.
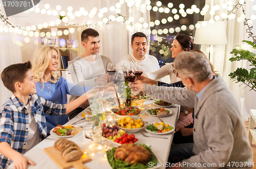
<svg viewBox="0 0 256 169">
<path fill-rule="evenodd" d="M 49 147 L 44 149 L 44 152 L 61 168 L 61 169 L 68 169 L 75 167 L 77 169 L 88 169 L 83 163 L 92 161 L 92 159 L 84 154 L 79 160 L 66 162 L 60 155 L 60 151 L 54 149 L 54 147 Z"/>
</svg>

